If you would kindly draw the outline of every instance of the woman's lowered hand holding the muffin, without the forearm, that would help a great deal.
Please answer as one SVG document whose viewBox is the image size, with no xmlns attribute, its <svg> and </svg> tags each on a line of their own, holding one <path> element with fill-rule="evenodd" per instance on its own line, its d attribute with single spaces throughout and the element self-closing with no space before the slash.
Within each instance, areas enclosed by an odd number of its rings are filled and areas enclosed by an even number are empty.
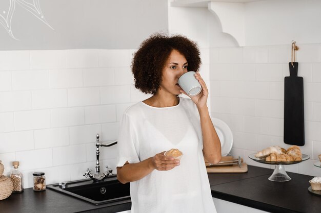
<svg viewBox="0 0 321 213">
<path fill-rule="evenodd" d="M 171 156 L 165 156 L 165 152 L 161 152 L 152 157 L 152 167 L 158 171 L 171 170 L 179 165 L 180 161 Z"/>
</svg>

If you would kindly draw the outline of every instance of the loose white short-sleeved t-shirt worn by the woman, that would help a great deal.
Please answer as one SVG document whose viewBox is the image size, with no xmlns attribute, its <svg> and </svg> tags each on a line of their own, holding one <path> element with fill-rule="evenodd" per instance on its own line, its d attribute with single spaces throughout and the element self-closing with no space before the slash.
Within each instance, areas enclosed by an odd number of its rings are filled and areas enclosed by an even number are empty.
<svg viewBox="0 0 321 213">
<path fill-rule="evenodd" d="M 192 100 L 180 97 L 178 105 L 162 108 L 138 102 L 125 111 L 117 167 L 172 148 L 183 152 L 180 165 L 169 171 L 154 170 L 130 183 L 131 213 L 215 213 L 199 114 Z"/>
</svg>

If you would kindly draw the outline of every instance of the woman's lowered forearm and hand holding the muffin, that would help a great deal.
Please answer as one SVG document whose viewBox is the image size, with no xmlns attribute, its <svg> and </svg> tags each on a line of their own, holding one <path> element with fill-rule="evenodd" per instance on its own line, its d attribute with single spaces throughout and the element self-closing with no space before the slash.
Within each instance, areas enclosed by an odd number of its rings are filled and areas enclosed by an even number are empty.
<svg viewBox="0 0 321 213">
<path fill-rule="evenodd" d="M 128 163 L 126 161 L 123 167 L 117 167 L 117 179 L 121 183 L 128 183 L 142 179 L 153 170 L 167 171 L 179 165 L 179 160 L 165 156 L 164 153 L 158 153 L 154 157 L 147 158 L 138 163 Z"/>
</svg>

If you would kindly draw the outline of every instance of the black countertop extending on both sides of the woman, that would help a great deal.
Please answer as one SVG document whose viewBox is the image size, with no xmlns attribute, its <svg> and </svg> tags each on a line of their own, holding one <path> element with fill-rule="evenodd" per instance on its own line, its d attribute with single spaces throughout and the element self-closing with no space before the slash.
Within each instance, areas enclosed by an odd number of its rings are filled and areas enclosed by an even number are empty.
<svg viewBox="0 0 321 213">
<path fill-rule="evenodd" d="M 288 172 L 288 182 L 269 181 L 273 170 L 248 166 L 247 173 L 209 173 L 212 196 L 270 212 L 321 212 L 321 197 L 308 192 L 313 177 Z M 47 189 L 27 188 L 0 201 L 4 213 L 119 212 L 129 210 L 130 200 L 93 205 Z"/>
</svg>

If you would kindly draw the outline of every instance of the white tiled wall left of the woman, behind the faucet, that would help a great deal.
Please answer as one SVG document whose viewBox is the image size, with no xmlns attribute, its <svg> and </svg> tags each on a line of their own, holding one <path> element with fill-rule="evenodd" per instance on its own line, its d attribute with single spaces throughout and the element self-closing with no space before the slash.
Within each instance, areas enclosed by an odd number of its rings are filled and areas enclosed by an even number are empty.
<svg viewBox="0 0 321 213">
<path fill-rule="evenodd" d="M 47 184 L 94 171 L 96 133 L 118 137 L 124 110 L 148 97 L 133 84 L 134 50 L 0 52 L 0 159 L 5 174 L 20 161 L 25 187 L 32 172 Z M 101 168 L 115 171 L 117 146 L 101 148 Z"/>
</svg>

